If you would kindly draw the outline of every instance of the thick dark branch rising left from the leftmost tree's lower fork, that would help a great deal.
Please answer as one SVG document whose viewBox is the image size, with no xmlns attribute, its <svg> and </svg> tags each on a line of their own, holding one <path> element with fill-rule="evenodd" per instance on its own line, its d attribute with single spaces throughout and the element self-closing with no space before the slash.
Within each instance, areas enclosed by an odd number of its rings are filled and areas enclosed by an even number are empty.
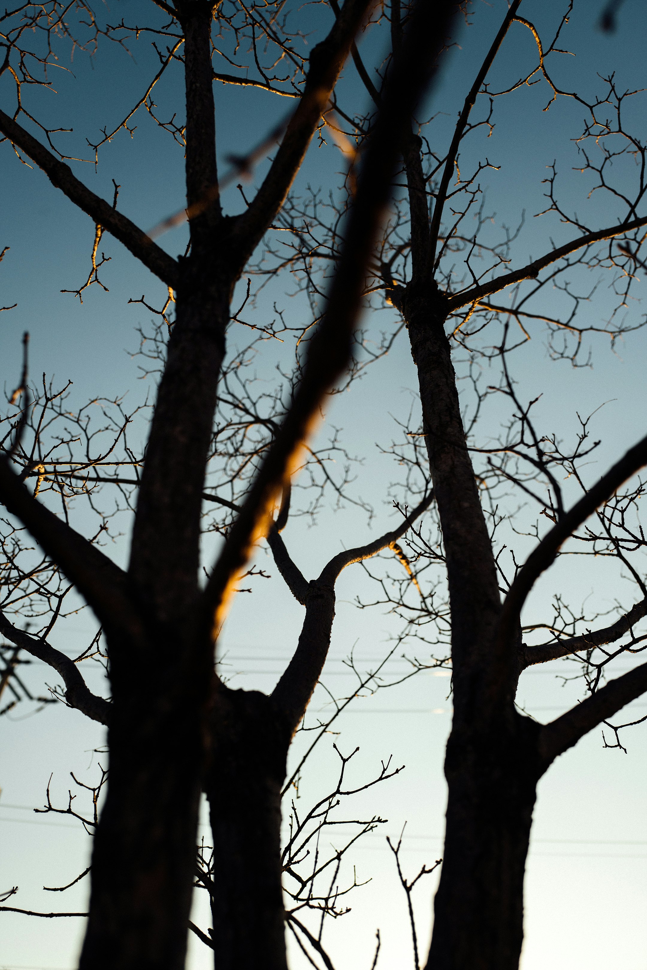
<svg viewBox="0 0 647 970">
<path fill-rule="evenodd" d="M 129 639 L 144 637 L 142 617 L 128 594 L 126 574 L 34 499 L 4 456 L 0 457 L 0 501 L 75 584 L 104 629 L 125 632 Z"/>
</svg>

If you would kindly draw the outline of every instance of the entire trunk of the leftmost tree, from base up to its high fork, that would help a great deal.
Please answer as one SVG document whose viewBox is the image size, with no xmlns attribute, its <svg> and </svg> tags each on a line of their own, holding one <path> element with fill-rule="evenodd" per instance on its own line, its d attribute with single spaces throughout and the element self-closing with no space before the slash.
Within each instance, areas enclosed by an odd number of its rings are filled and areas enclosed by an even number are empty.
<svg viewBox="0 0 647 970">
<path fill-rule="evenodd" d="M 133 533 L 146 632 L 107 630 L 110 779 L 81 970 L 184 965 L 213 677 L 210 631 L 196 630 L 200 511 L 230 288 L 205 286 L 204 260 L 184 269 Z"/>
</svg>

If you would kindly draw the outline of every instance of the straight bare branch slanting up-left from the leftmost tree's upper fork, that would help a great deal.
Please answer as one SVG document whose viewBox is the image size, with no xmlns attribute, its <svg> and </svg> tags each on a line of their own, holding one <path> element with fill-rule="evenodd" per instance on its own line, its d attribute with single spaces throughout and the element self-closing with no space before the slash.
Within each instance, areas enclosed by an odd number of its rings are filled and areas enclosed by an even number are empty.
<svg viewBox="0 0 647 970">
<path fill-rule="evenodd" d="M 110 203 L 101 199 L 73 175 L 69 165 L 59 161 L 55 155 L 28 131 L 25 131 L 8 114 L 0 111 L 0 131 L 18 146 L 38 167 L 45 172 L 49 181 L 59 188 L 68 199 L 86 212 L 95 223 L 108 230 L 115 239 L 122 242 L 126 249 L 132 252 L 146 269 L 150 270 L 168 286 L 178 287 L 179 267 L 172 256 L 164 252 L 155 242 L 152 242 L 139 226 L 127 219 L 121 212 L 117 212 Z"/>
</svg>

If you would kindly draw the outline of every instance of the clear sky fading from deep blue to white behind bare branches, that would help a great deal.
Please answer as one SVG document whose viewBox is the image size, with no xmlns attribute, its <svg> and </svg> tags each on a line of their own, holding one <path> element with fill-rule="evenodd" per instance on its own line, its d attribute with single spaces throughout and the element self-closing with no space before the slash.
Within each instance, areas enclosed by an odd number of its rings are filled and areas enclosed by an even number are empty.
<svg viewBox="0 0 647 970">
<path fill-rule="evenodd" d="M 124 16 L 126 22 L 145 9 L 130 0 L 114 6 L 118 10 L 114 16 Z M 561 80 L 565 86 L 572 82 L 587 90 L 601 89 L 598 76 L 616 71 L 619 86 L 642 87 L 647 11 L 637 0 L 627 0 L 617 32 L 606 35 L 597 29 L 601 7 L 599 2 L 575 4 L 564 46 L 576 56 L 564 55 Z M 438 138 L 447 130 L 443 125 L 450 124 L 460 107 L 471 83 L 473 65 L 494 35 L 504 9 L 499 0 L 491 5 L 474 5 L 473 26 L 462 32 L 460 48 L 452 52 L 430 98 L 430 113 L 439 113 L 435 129 Z M 563 9 L 557 0 L 542 4 L 528 0 L 521 13 L 536 16 L 547 35 Z M 307 16 L 316 25 L 321 14 L 315 9 Z M 520 26 L 515 29 L 517 33 L 511 35 L 502 51 L 497 69 L 500 73 L 493 76 L 493 83 L 519 76 L 530 56 L 532 40 L 528 32 Z M 362 49 L 367 57 L 377 57 L 375 43 L 371 35 L 364 42 Z M 100 50 L 90 62 L 77 51 L 74 76 L 65 74 L 57 79 L 57 96 L 35 92 L 34 110 L 48 112 L 53 117 L 52 127 L 73 127 L 71 153 L 84 151 L 89 157 L 85 139 L 96 141 L 99 127 L 118 122 L 124 106 L 132 100 L 132 92 L 141 89 L 142 78 L 154 64 L 154 54 L 144 44 L 138 47 L 134 59 L 123 51 L 109 49 Z M 343 83 L 349 98 L 357 95 L 351 72 Z M 273 100 L 264 92 L 220 85 L 215 91 L 218 155 L 224 168 L 229 153 L 241 153 L 259 141 L 285 112 L 286 101 Z M 538 255 L 551 234 L 561 231 L 556 222 L 532 218 L 532 213 L 543 208 L 541 179 L 554 158 L 560 160 L 567 200 L 579 205 L 586 195 L 577 173 L 571 171 L 576 164 L 572 139 L 580 133 L 582 111 L 572 101 L 561 101 L 549 112 L 542 112 L 547 100 L 545 84 L 509 99 L 486 146 L 493 164 L 505 163 L 499 172 L 491 170 L 483 177 L 496 225 L 516 225 L 521 211 L 527 212 L 515 250 L 515 259 L 520 261 Z M 8 110 L 7 104 L 13 105 L 6 81 L 0 85 L 0 101 L 4 110 Z M 160 92 L 159 101 L 164 110 L 181 112 L 175 82 Z M 74 168 L 86 184 L 107 198 L 112 197 L 114 178 L 121 185 L 120 208 L 148 228 L 183 204 L 181 154 L 169 150 L 168 137 L 163 138 L 145 114 L 138 114 L 136 120 L 134 137 L 121 132 L 106 146 L 96 173 L 90 164 L 75 163 Z M 644 120 L 642 123 L 644 126 Z M 474 150 L 481 151 L 481 147 Z M 308 184 L 335 187 L 339 181 L 335 173 L 341 167 L 335 146 L 313 144 L 297 190 L 304 191 Z M 136 327 L 148 327 L 150 315 L 128 300 L 145 295 L 146 301 L 158 303 L 163 300 L 164 288 L 117 242 L 104 237 L 102 247 L 111 262 L 102 278 L 110 292 L 95 286 L 84 294 L 82 305 L 71 294 L 61 293 L 78 285 L 87 273 L 93 238 L 90 220 L 62 198 L 47 178 L 20 165 L 6 144 L 0 146 L 0 172 L 0 248 L 11 246 L 0 265 L 0 305 L 17 302 L 16 309 L 0 314 L 5 388 L 11 392 L 16 386 L 20 338 L 27 329 L 32 374 L 47 372 L 63 382 L 72 379 L 74 402 L 114 394 L 126 395 L 127 402 L 141 401 L 148 385 L 138 379 Z M 263 166 L 255 178 L 262 172 Z M 240 209 L 235 189 L 228 191 L 225 201 L 231 211 Z M 602 225 L 605 219 L 613 218 L 613 213 L 600 202 L 597 216 Z M 183 230 L 169 234 L 162 242 L 174 254 L 182 251 Z M 260 305 L 261 316 L 272 312 L 275 296 L 271 290 L 266 303 Z M 603 317 L 608 301 L 608 292 L 601 286 L 584 313 L 592 319 Z M 639 305 L 630 307 L 630 311 L 640 317 Z M 298 299 L 286 302 L 286 313 L 296 322 L 303 304 Z M 647 335 L 641 331 L 629 335 L 615 352 L 609 350 L 608 341 L 590 339 L 593 366 L 579 370 L 571 369 L 566 362 L 550 360 L 540 330 L 533 337 L 516 359 L 515 375 L 529 399 L 542 395 L 537 405 L 542 426 L 572 436 L 577 412 L 588 414 L 603 405 L 595 418 L 595 433 L 602 443 L 591 471 L 592 475 L 596 469 L 599 473 L 644 434 Z M 234 332 L 232 345 L 243 338 Z M 274 367 L 274 360 L 268 351 L 259 369 Z M 369 523 L 356 507 L 347 506 L 326 510 L 314 526 L 306 519 L 291 522 L 285 539 L 307 577 L 317 574 L 342 544 L 361 543 L 391 528 L 388 485 L 396 472 L 376 445 L 387 447 L 397 436 L 394 419 L 405 417 L 414 400 L 414 387 L 410 355 L 401 339 L 357 386 L 330 404 L 320 436 L 323 438 L 332 426 L 341 426 L 348 450 L 364 458 L 364 464 L 355 469 L 355 488 L 358 495 L 372 502 L 375 517 Z M 493 407 L 485 420 L 495 429 L 499 417 Z M 117 561 L 123 562 L 125 552 L 125 542 L 113 547 Z M 207 542 L 206 561 L 212 554 L 213 545 Z M 273 571 L 265 551 L 259 551 L 257 562 Z M 528 615 L 540 615 L 555 589 L 574 601 L 594 597 L 604 604 L 626 595 L 622 580 L 604 564 L 581 563 L 576 559 L 562 561 L 544 577 L 529 604 Z M 343 663 L 349 652 L 355 650 L 361 669 L 369 668 L 390 649 L 389 637 L 397 629 L 384 611 L 357 609 L 358 596 L 370 600 L 374 587 L 361 568 L 353 566 L 342 574 L 338 586 L 331 654 L 322 678 L 335 695 L 354 689 L 352 675 Z M 251 596 L 237 598 L 220 647 L 223 669 L 230 672 L 232 684 L 270 690 L 281 663 L 296 643 L 300 621 L 301 608 L 276 577 L 268 583 L 255 583 Z M 74 654 L 94 630 L 93 619 L 85 611 L 57 629 L 55 645 Z M 626 661 L 618 665 L 619 670 L 627 668 Z M 397 656 L 387 667 L 394 679 L 406 669 L 406 663 Z M 550 664 L 522 677 L 518 700 L 539 720 L 551 720 L 581 696 L 577 686 L 562 684 L 558 676 L 561 669 Z M 451 718 L 449 681 L 441 673 L 427 671 L 400 686 L 356 700 L 340 717 L 336 728 L 340 734 L 322 739 L 305 774 L 300 803 L 308 805 L 328 791 L 337 771 L 339 758 L 333 741 L 344 755 L 359 746 L 349 768 L 358 785 L 379 772 L 382 760 L 391 758 L 392 765 L 405 766 L 397 777 L 356 796 L 352 808 L 349 804 L 348 819 L 379 815 L 388 822 L 379 826 L 380 831 L 367 835 L 355 850 L 357 880 L 371 882 L 354 890 L 349 897 L 352 912 L 330 926 L 324 938 L 338 970 L 350 966 L 366 966 L 368 970 L 377 928 L 382 939 L 378 966 L 395 970 L 411 965 L 404 892 L 398 886 L 384 836 L 397 838 L 406 824 L 403 860 L 409 878 L 423 863 L 430 865 L 441 855 L 446 797 L 442 759 Z M 30 684 L 41 686 L 55 680 L 37 664 L 30 668 L 29 678 Z M 99 668 L 90 668 L 87 678 L 92 689 L 104 689 Z M 319 689 L 313 708 L 324 709 L 326 702 L 323 689 Z M 636 718 L 642 716 L 647 712 L 647 702 L 643 699 L 632 704 L 630 712 Z M 298 737 L 291 763 L 296 763 L 306 740 L 305 736 Z M 547 966 L 555 970 L 606 970 L 616 966 L 647 970 L 647 727 L 634 728 L 625 740 L 627 754 L 604 749 L 600 731 L 593 731 L 560 758 L 539 785 L 526 879 L 523 970 Z M 87 880 L 64 895 L 41 888 L 64 885 L 81 872 L 87 864 L 89 839 L 73 820 L 35 815 L 32 810 L 43 804 L 50 776 L 52 800 L 57 799 L 58 805 L 65 804 L 68 790 L 75 788 L 71 771 L 85 784 L 95 783 L 97 763 L 105 763 L 104 756 L 97 754 L 103 743 L 99 726 L 88 724 L 78 712 L 62 705 L 49 705 L 38 714 L 26 707 L 24 711 L 16 709 L 0 722 L 0 890 L 18 885 L 16 905 L 41 911 L 81 911 L 86 905 Z M 207 837 L 206 816 L 202 824 L 201 831 Z M 351 827 L 348 825 L 347 830 Z M 351 868 L 346 869 L 346 878 L 352 880 Z M 423 952 L 431 931 L 436 879 L 437 873 L 426 877 L 415 890 Z M 198 898 L 195 905 L 196 920 L 206 925 L 204 900 Z M 71 970 L 75 966 L 81 920 L 0 916 L 0 968 Z M 303 965 L 298 953 L 291 952 L 291 960 L 294 968 Z M 191 939 L 190 970 L 202 970 L 209 962 L 205 948 Z"/>
</svg>

